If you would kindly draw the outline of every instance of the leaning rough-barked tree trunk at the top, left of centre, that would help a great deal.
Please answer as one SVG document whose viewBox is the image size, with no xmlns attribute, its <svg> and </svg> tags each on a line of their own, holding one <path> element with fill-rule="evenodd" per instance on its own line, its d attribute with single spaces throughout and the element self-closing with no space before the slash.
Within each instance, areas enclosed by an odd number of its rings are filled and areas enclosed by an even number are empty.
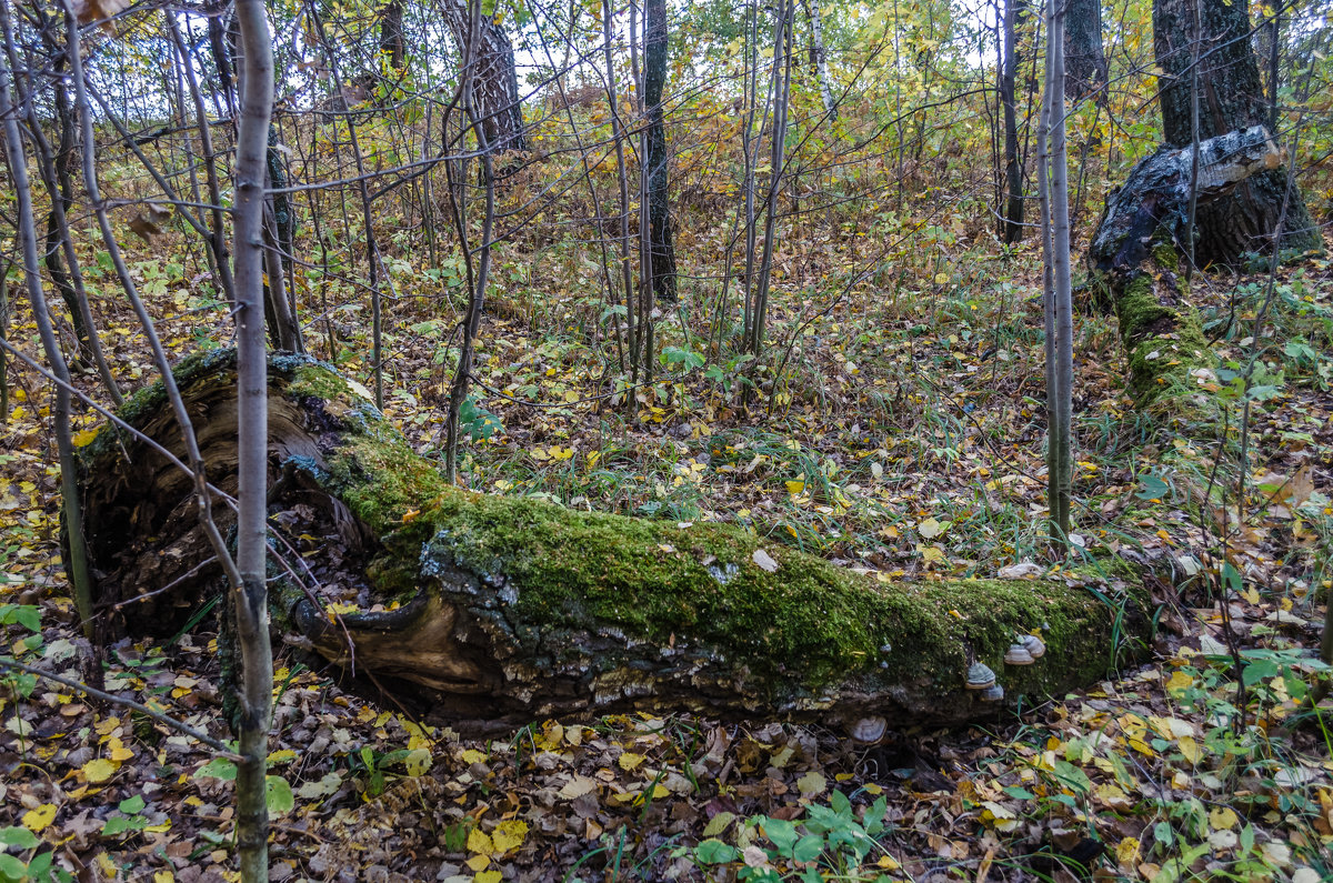
<svg viewBox="0 0 1333 883">
<path fill-rule="evenodd" d="M 467 55 L 471 33 L 468 0 L 447 0 L 444 17 L 460 53 Z M 513 65 L 513 44 L 509 43 L 504 28 L 491 16 L 481 19 L 480 40 L 472 57 L 476 65 L 473 99 L 477 103 L 477 116 L 481 117 L 488 151 L 525 152 L 528 136 L 523 128 L 523 104 L 519 99 L 519 75 Z"/>
</svg>

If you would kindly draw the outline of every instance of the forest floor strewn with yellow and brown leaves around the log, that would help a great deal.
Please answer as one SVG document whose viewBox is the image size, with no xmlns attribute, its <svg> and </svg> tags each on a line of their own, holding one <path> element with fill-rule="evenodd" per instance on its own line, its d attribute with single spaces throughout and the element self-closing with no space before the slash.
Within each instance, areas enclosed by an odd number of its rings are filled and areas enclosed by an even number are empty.
<svg viewBox="0 0 1333 883">
<path fill-rule="evenodd" d="M 1029 256 L 973 257 L 832 297 L 817 320 L 805 304 L 805 329 L 774 341 L 784 380 L 761 376 L 766 400 L 748 411 L 734 363 L 692 369 L 712 351 L 693 336 L 688 292 L 663 323 L 665 379 L 628 391 L 585 307 L 497 300 L 460 480 L 738 522 L 892 578 L 1058 578 L 1045 558 L 1040 281 Z M 136 264 L 141 281 L 157 263 Z M 1196 279 L 1237 372 L 1266 283 Z M 173 352 L 225 344 L 188 283 L 148 293 Z M 427 307 L 396 304 L 413 320 L 389 328 L 385 409 L 431 455 L 452 319 Z M 790 329 L 800 308 L 778 297 L 772 327 Z M 105 341 L 117 372 L 147 381 L 120 309 L 99 304 Z M 28 340 L 24 320 L 11 339 Z M 364 333 L 339 321 L 340 365 L 368 383 Z M 275 784 L 273 879 L 1330 879 L 1333 735 L 1328 710 L 1302 700 L 1328 682 L 1317 648 L 1333 586 L 1333 268 L 1277 273 L 1244 424 L 1225 369 L 1137 409 L 1114 320 L 1082 304 L 1077 323 L 1072 563 L 1148 574 L 1161 603 L 1150 662 L 988 726 L 897 722 L 870 747 L 821 727 L 684 716 L 535 722 L 508 742 L 468 742 L 279 648 L 271 763 L 291 794 Z M 316 355 L 325 333 L 309 329 Z M 4 652 L 77 678 L 49 388 L 15 376 L 0 425 Z M 1180 396 L 1208 397 L 1222 417 L 1177 423 Z M 96 425 L 89 415 L 80 437 Z M 211 623 L 113 647 L 107 690 L 228 738 Z M 79 879 L 232 879 L 232 783 L 199 743 L 21 678 L 5 683 L 0 718 L 0 879 L 44 855 Z"/>
</svg>

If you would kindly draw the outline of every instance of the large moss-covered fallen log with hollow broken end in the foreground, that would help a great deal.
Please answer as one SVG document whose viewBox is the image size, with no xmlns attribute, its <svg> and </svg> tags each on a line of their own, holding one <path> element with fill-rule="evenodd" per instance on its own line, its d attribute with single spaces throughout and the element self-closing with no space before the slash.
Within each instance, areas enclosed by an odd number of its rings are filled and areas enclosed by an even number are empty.
<svg viewBox="0 0 1333 883">
<path fill-rule="evenodd" d="M 965 688 L 973 660 L 1009 698 L 1060 695 L 1104 676 L 1116 640 L 1145 631 L 1134 598 L 1022 580 L 884 583 L 734 527 L 452 488 L 332 368 L 275 356 L 269 377 L 273 547 L 304 550 L 275 564 L 275 622 L 433 719 L 513 727 L 652 708 L 957 723 L 997 707 Z M 235 359 L 187 360 L 177 380 L 209 479 L 229 491 Z M 179 454 L 160 388 L 121 416 Z M 116 429 L 81 466 L 103 603 L 128 631 L 181 627 L 217 583 L 188 476 Z M 225 520 L 225 506 L 215 511 Z M 312 535 L 333 539 L 303 547 Z M 325 606 L 329 556 L 363 580 L 356 610 Z M 1030 632 L 1046 655 L 1006 666 Z"/>
</svg>

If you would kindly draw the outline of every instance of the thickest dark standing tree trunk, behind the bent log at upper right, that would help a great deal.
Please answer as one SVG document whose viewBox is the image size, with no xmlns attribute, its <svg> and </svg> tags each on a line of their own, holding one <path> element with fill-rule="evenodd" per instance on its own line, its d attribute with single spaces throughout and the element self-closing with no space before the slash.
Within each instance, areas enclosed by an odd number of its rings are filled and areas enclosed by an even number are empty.
<svg viewBox="0 0 1333 883">
<path fill-rule="evenodd" d="M 1161 77 L 1158 100 L 1162 136 L 1168 147 L 1190 144 L 1190 35 L 1193 3 L 1198 9 L 1198 137 L 1208 140 L 1236 129 L 1265 125 L 1268 100 L 1258 79 L 1250 41 L 1246 0 L 1154 0 L 1153 43 Z M 1274 169 L 1254 175 L 1222 199 L 1200 205 L 1196 263 L 1230 264 L 1246 252 L 1265 251 L 1282 211 L 1286 173 Z M 1282 247 L 1298 252 L 1322 247 L 1300 189 L 1293 191 L 1284 223 Z"/>
</svg>

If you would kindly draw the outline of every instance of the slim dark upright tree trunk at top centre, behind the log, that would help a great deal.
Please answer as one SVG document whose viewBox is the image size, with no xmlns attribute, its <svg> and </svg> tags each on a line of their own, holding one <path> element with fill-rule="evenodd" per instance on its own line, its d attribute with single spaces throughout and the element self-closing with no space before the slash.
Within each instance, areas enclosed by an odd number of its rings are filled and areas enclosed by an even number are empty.
<svg viewBox="0 0 1333 883">
<path fill-rule="evenodd" d="M 666 84 L 666 0 L 644 3 L 644 111 L 648 115 L 648 221 L 653 296 L 676 301 L 676 248 L 672 244 L 670 197 L 666 193 L 666 127 L 663 87 Z"/>
</svg>

